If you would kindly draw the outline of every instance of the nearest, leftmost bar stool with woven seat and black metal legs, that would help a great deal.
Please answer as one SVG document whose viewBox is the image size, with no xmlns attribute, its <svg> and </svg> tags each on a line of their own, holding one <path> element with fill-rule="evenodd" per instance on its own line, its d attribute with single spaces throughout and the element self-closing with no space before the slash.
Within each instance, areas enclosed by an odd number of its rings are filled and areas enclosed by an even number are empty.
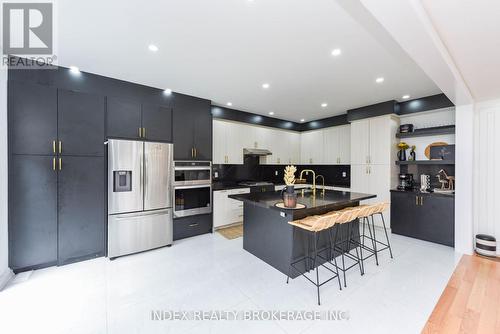
<svg viewBox="0 0 500 334">
<path fill-rule="evenodd" d="M 301 231 L 303 231 L 307 234 L 308 238 L 310 236 L 312 236 L 312 238 L 313 238 L 313 254 L 311 256 L 311 254 L 309 253 L 310 250 L 309 250 L 309 245 L 308 245 L 306 252 L 305 252 L 305 255 L 303 257 L 300 257 L 300 258 L 294 260 L 293 259 L 293 250 L 292 250 L 292 254 L 290 254 L 290 267 L 288 270 L 288 275 L 286 277 L 286 283 L 288 284 L 288 282 L 289 282 L 292 269 L 296 270 L 300 275 L 304 276 L 309 282 L 311 282 L 312 284 L 314 284 L 316 286 L 317 293 L 318 293 L 318 305 L 320 305 L 320 294 L 319 294 L 320 286 L 337 278 L 338 283 L 339 283 L 339 287 L 340 287 L 340 289 L 342 289 L 336 259 L 334 259 L 335 264 L 332 264 L 333 269 L 329 268 L 326 266 L 327 263 L 331 264 L 329 257 L 323 257 L 321 255 L 321 252 L 328 250 L 328 247 L 325 247 L 323 250 L 318 251 L 318 241 L 319 241 L 320 234 L 323 232 L 330 231 L 331 228 L 336 224 L 338 217 L 339 217 L 338 214 L 326 214 L 326 215 L 321 215 L 321 216 L 311 216 L 311 217 L 307 217 L 307 218 L 304 218 L 301 220 L 288 222 L 290 225 L 293 225 L 292 244 L 295 243 L 296 230 L 300 229 Z M 329 239 L 329 241 L 330 241 L 330 239 Z M 316 265 L 317 258 L 320 258 L 324 262 L 320 263 L 319 265 Z M 308 265 L 309 260 L 312 260 L 312 263 L 313 263 L 312 269 L 313 270 L 316 269 L 316 281 L 313 281 L 312 279 L 307 277 L 307 275 L 305 274 L 306 272 L 310 271 L 310 268 Z M 302 261 L 305 262 L 305 271 L 304 272 L 295 266 L 297 263 L 302 262 Z M 321 283 L 319 280 L 319 267 L 320 266 L 326 268 L 327 270 L 329 270 L 330 272 L 333 273 L 333 275 L 330 278 L 328 278 L 327 280 L 325 280 Z"/>
</svg>

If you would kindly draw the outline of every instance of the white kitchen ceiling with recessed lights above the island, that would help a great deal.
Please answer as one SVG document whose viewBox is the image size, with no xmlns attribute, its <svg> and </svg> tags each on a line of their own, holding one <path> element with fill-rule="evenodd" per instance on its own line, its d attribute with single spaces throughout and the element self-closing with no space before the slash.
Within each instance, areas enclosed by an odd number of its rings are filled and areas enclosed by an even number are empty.
<svg viewBox="0 0 500 334">
<path fill-rule="evenodd" d="M 57 17 L 62 66 L 292 121 L 440 93 L 334 0 L 59 1 Z"/>
</svg>

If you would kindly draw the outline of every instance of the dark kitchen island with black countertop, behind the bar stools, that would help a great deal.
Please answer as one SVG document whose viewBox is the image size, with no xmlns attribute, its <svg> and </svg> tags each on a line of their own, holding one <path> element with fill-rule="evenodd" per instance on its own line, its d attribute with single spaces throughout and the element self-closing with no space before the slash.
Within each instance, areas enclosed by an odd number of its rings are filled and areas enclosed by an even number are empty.
<svg viewBox="0 0 500 334">
<path fill-rule="evenodd" d="M 288 274 L 291 255 L 293 259 L 298 259 L 304 256 L 305 250 L 309 247 L 307 234 L 288 222 L 357 206 L 360 201 L 376 197 L 376 195 L 334 190 L 325 190 L 324 193 L 318 190 L 315 196 L 311 190 L 306 190 L 304 193 L 297 191 L 297 194 L 297 203 L 305 205 L 303 209 L 276 207 L 276 203 L 282 202 L 280 191 L 229 196 L 244 204 L 243 248 L 285 275 Z M 320 238 L 319 249 L 325 247 L 327 242 L 326 238 Z M 291 277 L 296 276 L 297 272 L 291 275 Z"/>
</svg>

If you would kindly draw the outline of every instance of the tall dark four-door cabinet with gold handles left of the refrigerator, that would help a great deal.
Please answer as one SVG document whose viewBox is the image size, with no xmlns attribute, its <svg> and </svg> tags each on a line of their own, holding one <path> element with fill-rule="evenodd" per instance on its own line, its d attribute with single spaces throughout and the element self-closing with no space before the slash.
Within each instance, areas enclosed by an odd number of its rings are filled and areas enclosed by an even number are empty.
<svg viewBox="0 0 500 334">
<path fill-rule="evenodd" d="M 9 81 L 9 266 L 104 254 L 105 99 Z"/>
</svg>

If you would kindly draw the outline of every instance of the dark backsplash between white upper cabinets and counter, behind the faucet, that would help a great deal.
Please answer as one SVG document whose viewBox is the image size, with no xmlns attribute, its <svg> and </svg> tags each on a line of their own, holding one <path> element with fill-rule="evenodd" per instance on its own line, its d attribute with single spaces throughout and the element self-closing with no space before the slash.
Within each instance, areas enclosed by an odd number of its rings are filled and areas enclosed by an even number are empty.
<svg viewBox="0 0 500 334">
<path fill-rule="evenodd" d="M 316 175 L 325 177 L 326 185 L 350 187 L 351 166 L 350 165 L 297 165 L 298 178 L 303 169 L 312 169 Z M 239 182 L 239 181 L 268 181 L 275 184 L 283 184 L 283 165 L 260 165 L 259 157 L 245 156 L 243 165 L 213 165 L 214 181 Z M 218 177 L 215 177 L 217 172 Z M 276 175 L 276 173 L 278 175 Z M 312 182 L 309 175 L 309 182 Z"/>
</svg>

